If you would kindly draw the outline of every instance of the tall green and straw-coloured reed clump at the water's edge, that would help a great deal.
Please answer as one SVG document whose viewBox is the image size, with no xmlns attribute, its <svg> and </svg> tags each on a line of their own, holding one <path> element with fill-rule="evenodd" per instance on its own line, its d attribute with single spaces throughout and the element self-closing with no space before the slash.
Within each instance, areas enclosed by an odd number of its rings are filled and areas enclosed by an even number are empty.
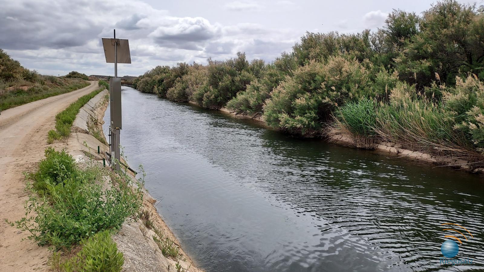
<svg viewBox="0 0 484 272">
<path fill-rule="evenodd" d="M 374 148 L 378 142 L 441 157 L 442 162 L 466 160 L 483 164 L 466 133 L 455 128 L 455 115 L 443 102 L 395 91 L 389 103 L 360 100 L 338 107 L 327 128 L 330 137 L 350 136 L 357 146 Z"/>
</svg>

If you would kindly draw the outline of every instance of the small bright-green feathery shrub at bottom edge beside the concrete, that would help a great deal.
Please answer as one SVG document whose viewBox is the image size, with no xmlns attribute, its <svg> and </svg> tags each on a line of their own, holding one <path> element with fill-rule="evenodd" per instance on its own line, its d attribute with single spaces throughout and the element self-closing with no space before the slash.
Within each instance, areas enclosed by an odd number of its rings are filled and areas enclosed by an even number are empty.
<svg viewBox="0 0 484 272">
<path fill-rule="evenodd" d="M 65 261 L 61 260 L 60 253 L 54 253 L 51 267 L 58 272 L 121 272 L 124 257 L 109 231 L 83 239 L 80 245 L 82 248 L 76 256 Z"/>
</svg>

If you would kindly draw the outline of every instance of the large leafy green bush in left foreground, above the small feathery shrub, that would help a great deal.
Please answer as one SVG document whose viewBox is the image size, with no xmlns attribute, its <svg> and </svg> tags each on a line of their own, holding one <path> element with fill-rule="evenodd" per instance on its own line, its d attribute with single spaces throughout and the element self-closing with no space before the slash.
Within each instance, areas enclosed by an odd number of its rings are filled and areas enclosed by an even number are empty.
<svg viewBox="0 0 484 272">
<path fill-rule="evenodd" d="M 18 228 L 30 231 L 29 238 L 39 245 L 70 247 L 99 231 L 118 229 L 125 218 L 138 213 L 140 184 L 133 190 L 131 181 L 111 175 L 104 185 L 106 168 L 77 169 L 72 157 L 52 149 L 46 156 L 39 171 L 31 175 L 34 184 L 28 184 L 32 193 L 40 193 L 35 184 L 42 184 L 44 196 L 30 195 L 26 217 L 15 222 Z"/>
</svg>

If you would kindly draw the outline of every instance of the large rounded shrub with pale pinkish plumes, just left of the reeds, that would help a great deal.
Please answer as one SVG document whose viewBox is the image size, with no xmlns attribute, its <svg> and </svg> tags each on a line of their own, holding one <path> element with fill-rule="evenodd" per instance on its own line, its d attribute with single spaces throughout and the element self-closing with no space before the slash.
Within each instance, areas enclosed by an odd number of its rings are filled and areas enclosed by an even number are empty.
<svg viewBox="0 0 484 272">
<path fill-rule="evenodd" d="M 377 93 L 370 88 L 368 71 L 357 60 L 337 56 L 326 64 L 310 61 L 272 91 L 264 106 L 264 118 L 273 127 L 314 136 L 329 119 L 334 105 L 375 97 Z"/>
</svg>

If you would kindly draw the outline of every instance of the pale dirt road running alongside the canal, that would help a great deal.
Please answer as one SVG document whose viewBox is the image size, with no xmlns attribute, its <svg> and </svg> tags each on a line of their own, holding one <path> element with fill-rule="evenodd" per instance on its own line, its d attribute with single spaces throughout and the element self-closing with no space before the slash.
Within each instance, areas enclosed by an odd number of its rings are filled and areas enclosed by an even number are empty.
<svg viewBox="0 0 484 272">
<path fill-rule="evenodd" d="M 10 227 L 4 219 L 25 216 L 24 171 L 35 169 L 47 147 L 47 132 L 55 126 L 55 116 L 77 100 L 96 90 L 97 81 L 80 90 L 52 96 L 1 112 L 0 115 L 0 271 L 47 271 L 50 255 L 27 238 L 27 231 Z M 53 144 L 55 148 L 65 143 Z"/>
</svg>

